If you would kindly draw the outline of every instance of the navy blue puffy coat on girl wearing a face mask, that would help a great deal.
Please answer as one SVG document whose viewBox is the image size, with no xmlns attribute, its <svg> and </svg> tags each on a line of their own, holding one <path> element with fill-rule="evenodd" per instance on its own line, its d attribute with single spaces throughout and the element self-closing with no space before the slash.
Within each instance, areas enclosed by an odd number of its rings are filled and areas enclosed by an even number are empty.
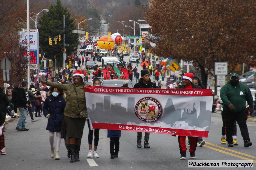
<svg viewBox="0 0 256 170">
<path fill-rule="evenodd" d="M 43 107 L 44 116 L 50 114 L 46 130 L 52 132 L 59 132 L 61 127 L 61 121 L 64 116 L 64 109 L 66 107 L 66 101 L 62 96 L 53 97 L 50 95 L 46 98 Z"/>
</svg>

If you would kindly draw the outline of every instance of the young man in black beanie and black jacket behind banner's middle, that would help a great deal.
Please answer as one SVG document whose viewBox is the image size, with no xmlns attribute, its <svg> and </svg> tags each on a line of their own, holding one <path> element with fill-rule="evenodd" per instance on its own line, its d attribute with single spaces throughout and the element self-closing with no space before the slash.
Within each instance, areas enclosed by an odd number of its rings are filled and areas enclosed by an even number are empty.
<svg viewBox="0 0 256 170">
<path fill-rule="evenodd" d="M 138 83 L 134 85 L 134 88 L 156 88 L 156 84 L 152 83 L 149 78 L 148 70 L 141 70 L 141 78 Z M 150 148 L 148 140 L 149 134 L 145 132 L 144 136 L 144 148 Z M 141 148 L 142 132 L 137 132 L 137 148 Z"/>
</svg>

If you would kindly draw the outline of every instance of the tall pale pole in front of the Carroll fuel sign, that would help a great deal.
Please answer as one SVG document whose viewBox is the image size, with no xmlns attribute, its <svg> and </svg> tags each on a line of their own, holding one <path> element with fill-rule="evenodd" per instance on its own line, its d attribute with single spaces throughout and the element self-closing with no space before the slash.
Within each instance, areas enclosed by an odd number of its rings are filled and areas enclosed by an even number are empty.
<svg viewBox="0 0 256 170">
<path fill-rule="evenodd" d="M 28 88 L 30 87 L 30 35 L 29 35 L 29 0 L 27 0 L 27 59 L 28 59 L 28 75 L 27 75 L 27 81 L 28 81 Z"/>
</svg>

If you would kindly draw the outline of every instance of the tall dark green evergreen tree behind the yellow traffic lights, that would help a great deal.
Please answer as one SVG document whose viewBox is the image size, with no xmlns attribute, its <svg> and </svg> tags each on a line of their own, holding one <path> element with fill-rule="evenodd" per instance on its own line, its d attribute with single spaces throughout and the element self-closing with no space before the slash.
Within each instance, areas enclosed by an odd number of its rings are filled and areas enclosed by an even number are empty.
<svg viewBox="0 0 256 170">
<path fill-rule="evenodd" d="M 63 7 L 60 0 L 57 0 L 56 5 L 49 5 L 49 12 L 43 13 L 38 21 L 38 31 L 39 31 L 39 42 L 40 47 L 46 53 L 46 58 L 55 61 L 54 56 L 57 56 L 58 66 L 63 65 L 63 15 L 65 15 L 65 46 L 67 49 L 67 55 L 71 54 L 77 49 L 79 44 L 79 35 L 72 33 L 75 27 L 74 18 L 70 16 L 70 13 L 66 8 Z M 57 40 L 57 45 L 55 45 L 54 38 L 58 38 L 61 35 L 61 41 Z M 49 38 L 52 38 L 52 45 L 49 45 Z"/>
</svg>

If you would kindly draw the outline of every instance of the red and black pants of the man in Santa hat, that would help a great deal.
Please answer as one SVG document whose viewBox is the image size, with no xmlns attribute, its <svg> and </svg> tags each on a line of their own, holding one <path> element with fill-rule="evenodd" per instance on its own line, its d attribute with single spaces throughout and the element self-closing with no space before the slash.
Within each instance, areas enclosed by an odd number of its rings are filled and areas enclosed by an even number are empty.
<svg viewBox="0 0 256 170">
<path fill-rule="evenodd" d="M 179 141 L 179 151 L 180 153 L 186 152 L 187 147 L 186 147 L 186 136 L 178 136 L 178 141 Z M 196 151 L 196 146 L 198 142 L 198 137 L 191 137 L 190 138 L 190 147 L 189 147 L 189 152 L 193 153 Z"/>
</svg>

